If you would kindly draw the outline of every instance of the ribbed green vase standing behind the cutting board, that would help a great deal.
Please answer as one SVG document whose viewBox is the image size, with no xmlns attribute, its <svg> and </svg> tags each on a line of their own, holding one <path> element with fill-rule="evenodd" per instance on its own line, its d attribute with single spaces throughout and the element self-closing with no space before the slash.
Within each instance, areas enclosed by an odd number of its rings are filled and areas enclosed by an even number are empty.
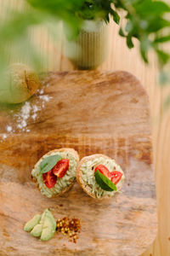
<svg viewBox="0 0 170 256">
<path fill-rule="evenodd" d="M 108 25 L 105 21 L 84 20 L 77 40 L 65 39 L 65 55 L 80 69 L 93 69 L 108 54 Z"/>
</svg>

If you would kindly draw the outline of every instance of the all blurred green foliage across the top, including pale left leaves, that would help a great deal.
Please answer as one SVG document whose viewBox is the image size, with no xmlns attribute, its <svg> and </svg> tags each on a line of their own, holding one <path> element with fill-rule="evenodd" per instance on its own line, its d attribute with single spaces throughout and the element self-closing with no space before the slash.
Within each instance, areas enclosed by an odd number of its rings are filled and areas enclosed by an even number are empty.
<svg viewBox="0 0 170 256">
<path fill-rule="evenodd" d="M 139 40 L 139 50 L 148 63 L 148 52 L 156 52 L 163 67 L 170 59 L 161 47 L 170 41 L 170 7 L 167 3 L 153 0 L 25 0 L 30 8 L 10 10 L 8 19 L 0 24 L 0 71 L 8 62 L 13 44 L 18 55 L 27 50 L 32 66 L 39 67 L 38 50 L 29 41 L 31 26 L 63 20 L 70 38 L 76 38 L 83 20 L 113 19 L 120 26 L 119 34 L 126 38 L 127 47 L 133 48 L 133 38 Z M 121 22 L 120 10 L 126 22 Z M 125 23 L 125 24 L 124 24 Z M 120 25 L 121 24 L 121 25 Z M 124 24 L 124 25 L 122 25 Z M 36 64 L 36 65 L 35 65 Z M 163 77 L 165 80 L 165 76 Z"/>
</svg>

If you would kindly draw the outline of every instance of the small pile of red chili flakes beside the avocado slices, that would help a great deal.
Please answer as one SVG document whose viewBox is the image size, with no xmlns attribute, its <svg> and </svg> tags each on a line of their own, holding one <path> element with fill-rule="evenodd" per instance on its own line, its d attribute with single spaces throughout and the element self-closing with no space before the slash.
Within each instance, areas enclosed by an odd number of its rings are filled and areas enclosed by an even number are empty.
<svg viewBox="0 0 170 256">
<path fill-rule="evenodd" d="M 81 224 L 78 218 L 59 218 L 56 221 L 57 230 L 64 236 L 69 236 L 69 241 L 77 242 L 77 233 L 80 233 Z"/>
</svg>

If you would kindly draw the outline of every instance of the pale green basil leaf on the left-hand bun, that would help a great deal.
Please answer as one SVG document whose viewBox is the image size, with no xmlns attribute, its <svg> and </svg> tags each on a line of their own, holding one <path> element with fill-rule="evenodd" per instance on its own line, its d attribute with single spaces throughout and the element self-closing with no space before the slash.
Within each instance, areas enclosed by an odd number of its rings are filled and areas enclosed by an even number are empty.
<svg viewBox="0 0 170 256">
<path fill-rule="evenodd" d="M 46 157 L 42 162 L 40 163 L 40 173 L 45 173 L 50 171 L 56 163 L 61 160 L 61 156 L 59 154 L 50 155 Z"/>
</svg>

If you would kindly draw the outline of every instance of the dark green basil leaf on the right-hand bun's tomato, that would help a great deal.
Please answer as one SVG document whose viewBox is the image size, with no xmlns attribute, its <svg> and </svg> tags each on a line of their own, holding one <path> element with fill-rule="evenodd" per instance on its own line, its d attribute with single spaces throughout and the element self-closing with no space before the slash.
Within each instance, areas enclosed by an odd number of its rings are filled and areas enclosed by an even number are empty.
<svg viewBox="0 0 170 256">
<path fill-rule="evenodd" d="M 98 183 L 99 187 L 101 189 L 104 189 L 105 191 L 116 191 L 116 185 L 111 182 L 111 180 L 108 177 L 105 177 L 99 170 L 95 172 L 95 180 L 96 183 Z"/>
</svg>

